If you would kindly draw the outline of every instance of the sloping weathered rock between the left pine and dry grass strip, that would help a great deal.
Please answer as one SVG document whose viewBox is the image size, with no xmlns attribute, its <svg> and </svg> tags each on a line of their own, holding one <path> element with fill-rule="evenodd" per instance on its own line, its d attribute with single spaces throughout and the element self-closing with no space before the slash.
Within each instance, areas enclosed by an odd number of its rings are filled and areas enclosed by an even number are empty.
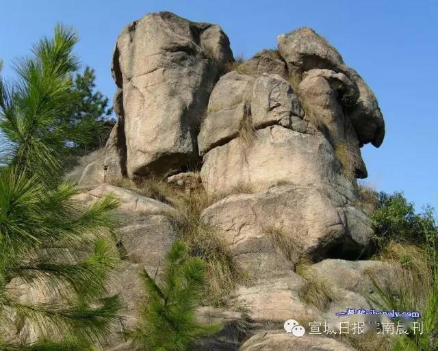
<svg viewBox="0 0 438 351">
<path fill-rule="evenodd" d="M 177 229 L 170 218 L 176 210 L 152 198 L 146 198 L 132 190 L 110 184 L 92 187 L 76 196 L 83 205 L 90 205 L 103 196 L 118 198 L 120 222 L 118 248 L 124 256 L 118 267 L 117 279 L 110 286 L 110 295 L 120 294 L 123 317 L 114 326 L 112 345 L 125 344 L 120 330 L 136 327 L 139 308 L 144 301 L 145 291 L 140 281 L 140 272 L 145 269 L 151 276 L 164 263 L 166 253 L 177 238 Z M 129 350 L 129 348 L 128 348 Z"/>
</svg>

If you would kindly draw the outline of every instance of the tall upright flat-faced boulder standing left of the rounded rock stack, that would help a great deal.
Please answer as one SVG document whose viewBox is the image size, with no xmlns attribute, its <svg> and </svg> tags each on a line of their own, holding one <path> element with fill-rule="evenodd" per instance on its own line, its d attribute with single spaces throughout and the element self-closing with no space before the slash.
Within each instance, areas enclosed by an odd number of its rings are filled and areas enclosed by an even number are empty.
<svg viewBox="0 0 438 351">
<path fill-rule="evenodd" d="M 125 27 L 112 60 L 118 126 L 104 159 L 90 166 L 81 183 L 196 164 L 199 120 L 231 60 L 229 40 L 217 25 L 159 12 Z"/>
</svg>

